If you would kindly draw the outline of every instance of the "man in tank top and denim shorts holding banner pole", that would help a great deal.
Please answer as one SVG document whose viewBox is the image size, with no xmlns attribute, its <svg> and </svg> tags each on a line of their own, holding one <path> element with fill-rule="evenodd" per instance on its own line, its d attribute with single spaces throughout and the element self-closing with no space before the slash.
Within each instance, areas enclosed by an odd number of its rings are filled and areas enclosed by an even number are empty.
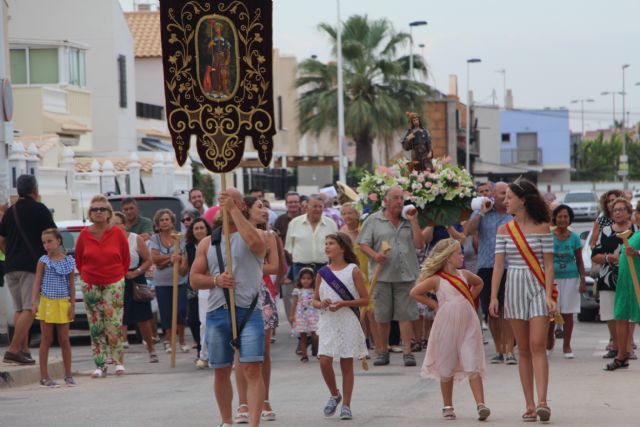
<svg viewBox="0 0 640 427">
<path fill-rule="evenodd" d="M 260 422 L 264 383 L 264 321 L 256 304 L 267 245 L 259 230 L 244 217 L 242 194 L 230 188 L 220 194 L 220 206 L 229 215 L 232 271 L 225 269 L 226 236 L 219 229 L 204 238 L 196 250 L 190 283 L 194 289 L 211 289 L 207 310 L 209 365 L 214 368 L 214 391 L 223 425 L 233 425 L 231 371 L 235 351 L 248 383 L 251 425 Z M 235 292 L 238 339 L 233 340 L 228 290 Z"/>
</svg>

